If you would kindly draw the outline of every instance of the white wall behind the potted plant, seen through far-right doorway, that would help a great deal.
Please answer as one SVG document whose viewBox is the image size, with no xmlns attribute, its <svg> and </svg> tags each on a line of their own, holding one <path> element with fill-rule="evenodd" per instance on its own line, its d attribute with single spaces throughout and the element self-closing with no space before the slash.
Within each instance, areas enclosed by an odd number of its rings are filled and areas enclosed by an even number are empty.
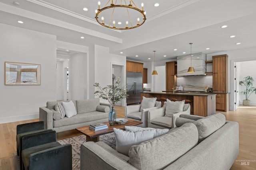
<svg viewBox="0 0 256 170">
<path fill-rule="evenodd" d="M 240 62 L 240 75 L 238 77 L 238 82 L 241 80 L 244 80 L 244 77 L 246 76 L 252 76 L 252 78 L 254 79 L 254 83 L 252 85 L 252 87 L 256 87 L 256 61 L 244 61 L 244 62 Z M 250 68 L 250 69 L 248 69 Z M 244 94 L 242 94 L 242 91 L 244 91 L 245 88 L 244 86 L 239 86 L 238 87 L 238 92 L 240 93 L 240 104 L 242 105 L 243 100 L 245 100 L 245 96 Z M 256 106 L 256 94 L 252 93 L 249 98 L 250 100 L 250 105 L 254 105 Z"/>
</svg>

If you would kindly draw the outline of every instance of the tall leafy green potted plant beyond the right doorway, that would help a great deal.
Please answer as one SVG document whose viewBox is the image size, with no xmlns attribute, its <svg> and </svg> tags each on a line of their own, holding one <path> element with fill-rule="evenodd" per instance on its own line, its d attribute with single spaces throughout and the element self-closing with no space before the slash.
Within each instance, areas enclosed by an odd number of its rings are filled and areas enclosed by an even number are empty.
<svg viewBox="0 0 256 170">
<path fill-rule="evenodd" d="M 245 96 L 245 100 L 243 100 L 243 105 L 249 106 L 250 105 L 250 100 L 248 99 L 249 96 L 254 93 L 256 94 L 256 88 L 252 87 L 253 85 L 253 78 L 252 76 L 246 76 L 244 77 L 244 80 L 240 81 L 239 84 L 240 86 L 245 86 L 245 90 L 242 92 Z"/>
</svg>

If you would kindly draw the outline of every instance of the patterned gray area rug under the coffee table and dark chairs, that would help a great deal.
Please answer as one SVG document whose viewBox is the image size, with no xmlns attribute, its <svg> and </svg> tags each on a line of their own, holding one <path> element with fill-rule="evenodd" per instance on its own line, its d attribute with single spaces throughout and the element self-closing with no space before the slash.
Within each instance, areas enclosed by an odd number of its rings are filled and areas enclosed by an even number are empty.
<svg viewBox="0 0 256 170">
<path fill-rule="evenodd" d="M 81 144 L 86 141 L 85 135 L 80 135 L 68 139 L 63 139 L 58 141 L 60 144 L 68 144 L 72 145 L 72 170 L 80 170 L 80 147 Z M 116 136 L 113 133 L 108 133 L 100 136 L 100 141 L 108 144 L 113 149 L 116 149 Z M 20 158 L 17 156 L 17 152 L 14 152 L 14 160 L 16 163 L 16 169 L 20 169 Z"/>
</svg>

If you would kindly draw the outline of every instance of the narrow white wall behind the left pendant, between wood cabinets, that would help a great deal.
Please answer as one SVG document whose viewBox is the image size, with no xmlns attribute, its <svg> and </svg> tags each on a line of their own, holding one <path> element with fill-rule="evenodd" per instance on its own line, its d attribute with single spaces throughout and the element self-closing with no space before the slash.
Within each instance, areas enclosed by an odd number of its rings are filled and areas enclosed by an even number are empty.
<svg viewBox="0 0 256 170">
<path fill-rule="evenodd" d="M 155 92 L 162 92 L 166 90 L 166 66 L 156 66 L 158 75 L 155 75 Z"/>
</svg>

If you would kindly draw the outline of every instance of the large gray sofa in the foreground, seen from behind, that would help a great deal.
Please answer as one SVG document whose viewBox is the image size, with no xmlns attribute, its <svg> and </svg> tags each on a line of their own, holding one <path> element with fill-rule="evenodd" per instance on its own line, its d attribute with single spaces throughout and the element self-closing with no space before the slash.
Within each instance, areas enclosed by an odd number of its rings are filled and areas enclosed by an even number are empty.
<svg viewBox="0 0 256 170">
<path fill-rule="evenodd" d="M 129 157 L 103 142 L 81 145 L 81 170 L 229 170 L 239 152 L 238 123 L 216 113 L 180 115 L 168 133 L 129 150 Z"/>
</svg>

